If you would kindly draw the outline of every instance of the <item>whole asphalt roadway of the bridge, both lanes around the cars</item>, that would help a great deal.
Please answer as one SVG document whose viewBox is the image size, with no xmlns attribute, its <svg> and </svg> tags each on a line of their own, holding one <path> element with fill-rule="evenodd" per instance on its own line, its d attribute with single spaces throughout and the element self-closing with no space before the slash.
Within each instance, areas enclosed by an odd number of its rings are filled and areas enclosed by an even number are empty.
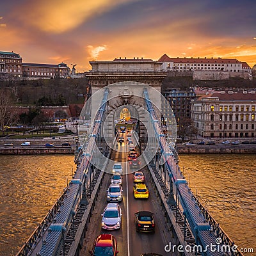
<svg viewBox="0 0 256 256">
<path fill-rule="evenodd" d="M 124 135 L 122 135 L 124 136 Z M 126 140 L 125 140 L 126 141 Z M 134 199 L 133 197 L 133 185 L 132 173 L 130 167 L 125 162 L 127 160 L 127 143 L 123 143 L 122 146 L 118 145 L 118 150 L 113 151 L 111 159 L 114 161 L 122 161 L 123 173 L 129 173 L 123 175 L 122 188 L 123 188 L 123 201 L 120 203 L 122 209 L 122 227 L 119 230 L 103 230 L 101 228 L 102 212 L 106 207 L 106 190 L 110 184 L 111 174 L 106 173 L 100 194 L 97 199 L 95 210 L 93 211 L 92 219 L 90 221 L 89 229 L 86 232 L 86 238 L 84 240 L 83 249 L 80 255 L 90 255 L 88 252 L 92 250 L 93 241 L 99 234 L 113 234 L 116 237 L 118 244 L 118 256 L 140 256 L 140 253 L 155 252 L 161 255 L 175 255 L 175 253 L 166 253 L 164 246 L 172 241 L 170 231 L 166 227 L 163 212 L 159 203 L 157 202 L 156 195 L 152 184 L 148 179 L 149 173 L 147 168 L 143 168 L 143 172 L 146 177 L 146 185 L 149 190 L 148 200 Z M 111 170 L 111 164 L 107 166 L 108 170 Z M 156 232 L 152 233 L 138 233 L 136 232 L 134 224 L 134 212 L 136 211 L 151 211 L 154 212 L 154 218 L 156 221 Z M 173 244 L 173 243 L 172 243 Z"/>
</svg>

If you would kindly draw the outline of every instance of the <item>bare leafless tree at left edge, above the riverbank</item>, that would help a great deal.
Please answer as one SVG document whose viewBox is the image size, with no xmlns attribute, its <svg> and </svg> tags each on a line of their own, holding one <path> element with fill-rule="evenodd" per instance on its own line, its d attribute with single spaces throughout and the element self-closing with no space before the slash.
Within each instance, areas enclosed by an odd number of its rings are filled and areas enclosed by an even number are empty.
<svg viewBox="0 0 256 256">
<path fill-rule="evenodd" d="M 0 127 L 4 134 L 4 126 L 12 120 L 13 113 L 10 110 L 12 98 L 10 92 L 0 90 Z"/>
</svg>

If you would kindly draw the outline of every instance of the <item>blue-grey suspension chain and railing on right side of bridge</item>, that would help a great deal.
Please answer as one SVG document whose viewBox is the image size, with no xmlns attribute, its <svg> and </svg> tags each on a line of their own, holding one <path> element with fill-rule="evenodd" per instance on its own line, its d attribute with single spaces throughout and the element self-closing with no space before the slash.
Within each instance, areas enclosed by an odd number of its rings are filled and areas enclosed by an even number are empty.
<svg viewBox="0 0 256 256">
<path fill-rule="evenodd" d="M 159 121 L 157 121 L 156 111 L 150 98 L 148 96 L 147 89 L 144 90 L 145 102 L 150 113 L 150 118 L 152 124 L 154 125 L 154 131 L 156 136 L 159 139 L 159 147 L 161 149 L 162 157 L 164 157 L 165 165 L 170 173 L 173 186 L 173 194 L 176 195 L 176 200 L 178 200 L 181 205 L 184 216 L 188 221 L 189 227 L 193 232 L 193 236 L 196 239 L 196 244 L 200 244 L 203 248 L 207 248 L 207 244 L 214 244 L 217 246 L 216 238 L 223 238 L 223 244 L 234 244 L 232 240 L 223 232 L 222 228 L 219 225 L 216 225 L 216 221 L 213 221 L 213 218 L 205 218 L 206 215 L 202 214 L 202 204 L 198 204 L 198 199 L 195 199 L 195 196 L 191 192 L 191 189 L 188 187 L 188 183 L 184 179 L 182 172 L 180 172 L 179 161 L 175 159 L 172 155 L 166 156 L 166 139 L 163 136 L 161 131 L 161 126 Z M 199 207 L 200 205 L 200 207 Z M 209 216 L 209 214 L 208 214 Z M 209 221 L 208 221 L 209 220 Z M 212 225 L 212 227 L 211 227 Z M 237 250 L 238 251 L 238 250 Z M 243 255 L 239 251 L 237 255 Z M 205 252 L 203 255 L 223 255 L 223 252 Z M 230 252 L 228 255 L 235 255 L 234 252 Z"/>
</svg>

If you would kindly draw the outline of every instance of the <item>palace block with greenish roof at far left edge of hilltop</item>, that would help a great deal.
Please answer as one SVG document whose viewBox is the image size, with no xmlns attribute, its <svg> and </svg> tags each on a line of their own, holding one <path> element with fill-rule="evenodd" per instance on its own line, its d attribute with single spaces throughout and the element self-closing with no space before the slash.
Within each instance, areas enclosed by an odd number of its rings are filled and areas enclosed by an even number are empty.
<svg viewBox="0 0 256 256">
<path fill-rule="evenodd" d="M 22 76 L 22 58 L 15 52 L 0 51 L 0 78 Z"/>
</svg>

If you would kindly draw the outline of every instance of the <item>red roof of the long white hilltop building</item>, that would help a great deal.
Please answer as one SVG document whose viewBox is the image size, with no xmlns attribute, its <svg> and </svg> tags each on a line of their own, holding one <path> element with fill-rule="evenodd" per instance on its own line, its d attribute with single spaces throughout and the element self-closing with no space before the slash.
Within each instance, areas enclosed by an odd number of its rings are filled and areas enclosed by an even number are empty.
<svg viewBox="0 0 256 256">
<path fill-rule="evenodd" d="M 175 63 L 241 63 L 236 59 L 222 59 L 222 58 L 170 58 L 167 54 L 164 54 L 158 61 L 173 61 Z"/>
</svg>

